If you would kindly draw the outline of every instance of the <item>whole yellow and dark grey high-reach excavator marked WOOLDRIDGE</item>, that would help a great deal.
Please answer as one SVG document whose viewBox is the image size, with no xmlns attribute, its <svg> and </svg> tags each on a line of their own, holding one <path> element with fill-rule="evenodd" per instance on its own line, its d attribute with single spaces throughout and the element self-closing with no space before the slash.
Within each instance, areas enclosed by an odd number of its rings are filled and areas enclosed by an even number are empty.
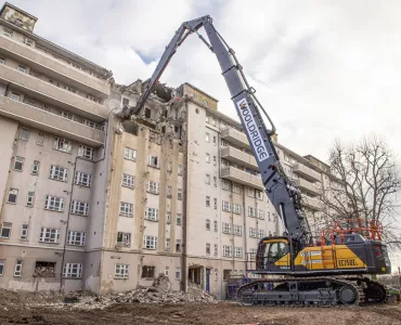
<svg viewBox="0 0 401 325">
<path fill-rule="evenodd" d="M 209 42 L 198 34 L 200 27 L 205 28 Z M 126 117 L 141 112 L 178 47 L 191 34 L 197 34 L 219 61 L 260 169 L 266 193 L 285 225 L 282 236 L 260 240 L 257 253 L 253 257 L 255 269 L 251 272 L 263 276 L 241 286 L 237 299 L 245 303 L 267 306 L 385 302 L 386 288 L 366 276 L 390 273 L 387 249 L 380 240 L 380 225 L 364 220 L 347 220 L 346 224 L 357 227 L 352 230 L 338 222 L 332 231 L 322 234 L 320 240 L 312 238 L 300 192 L 286 177 L 272 143 L 275 127 L 256 99 L 254 88 L 249 87 L 235 52 L 215 29 L 210 16 L 181 25 L 137 105 L 126 110 Z M 270 129 L 266 127 L 261 112 Z M 267 278 L 267 275 L 279 276 Z"/>
</svg>

